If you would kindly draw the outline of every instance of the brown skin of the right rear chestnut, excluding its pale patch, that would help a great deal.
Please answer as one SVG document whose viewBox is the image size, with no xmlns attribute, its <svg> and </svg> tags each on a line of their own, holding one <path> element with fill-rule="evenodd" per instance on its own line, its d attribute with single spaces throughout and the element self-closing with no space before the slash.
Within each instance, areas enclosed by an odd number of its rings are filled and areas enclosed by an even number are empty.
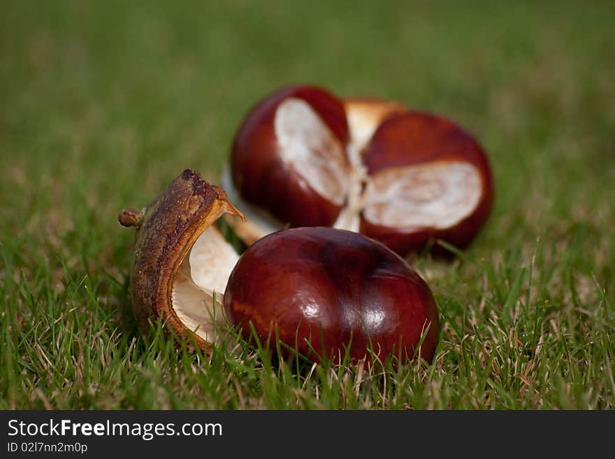
<svg viewBox="0 0 615 459">
<path fill-rule="evenodd" d="M 423 227 L 403 232 L 396 227 L 370 223 L 361 216 L 361 234 L 381 241 L 397 253 L 405 255 L 437 239 L 464 248 L 489 218 L 493 205 L 489 160 L 472 135 L 446 118 L 421 111 L 391 115 L 378 127 L 362 157 L 370 176 L 391 167 L 451 161 L 472 164 L 479 171 L 482 183 L 479 202 L 470 215 L 453 227 Z"/>
</svg>

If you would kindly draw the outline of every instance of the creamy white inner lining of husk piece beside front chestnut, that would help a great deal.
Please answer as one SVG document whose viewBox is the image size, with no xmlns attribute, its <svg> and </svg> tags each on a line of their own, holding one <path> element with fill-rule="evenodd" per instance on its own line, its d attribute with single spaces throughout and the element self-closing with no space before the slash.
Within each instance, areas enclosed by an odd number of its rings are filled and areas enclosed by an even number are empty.
<svg viewBox="0 0 615 459">
<path fill-rule="evenodd" d="M 217 341 L 216 330 L 224 329 L 224 290 L 238 259 L 219 229 L 209 227 L 196 239 L 173 281 L 175 313 L 209 343 Z"/>
</svg>

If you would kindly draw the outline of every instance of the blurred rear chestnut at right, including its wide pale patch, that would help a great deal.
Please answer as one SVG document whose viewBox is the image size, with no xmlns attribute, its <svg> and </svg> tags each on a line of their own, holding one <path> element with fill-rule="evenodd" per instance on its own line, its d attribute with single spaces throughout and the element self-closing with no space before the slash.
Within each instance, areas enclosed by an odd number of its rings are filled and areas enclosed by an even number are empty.
<svg viewBox="0 0 615 459">
<path fill-rule="evenodd" d="M 487 157 L 450 120 L 396 113 L 379 125 L 362 157 L 369 181 L 360 232 L 398 253 L 435 239 L 463 248 L 489 217 L 493 178 Z"/>
</svg>

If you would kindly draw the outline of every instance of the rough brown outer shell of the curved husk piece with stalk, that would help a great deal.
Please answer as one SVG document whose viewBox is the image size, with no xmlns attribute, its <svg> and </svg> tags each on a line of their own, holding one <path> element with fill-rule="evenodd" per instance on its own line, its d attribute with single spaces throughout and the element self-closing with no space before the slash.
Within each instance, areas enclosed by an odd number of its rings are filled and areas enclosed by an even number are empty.
<svg viewBox="0 0 615 459">
<path fill-rule="evenodd" d="M 203 351 L 211 344 L 189 330 L 173 310 L 171 293 L 180 264 L 198 236 L 224 213 L 239 218 L 226 192 L 186 169 L 142 210 L 125 209 L 118 220 L 136 227 L 130 292 L 133 312 L 143 332 L 161 318 L 167 334 L 189 338 Z"/>
</svg>

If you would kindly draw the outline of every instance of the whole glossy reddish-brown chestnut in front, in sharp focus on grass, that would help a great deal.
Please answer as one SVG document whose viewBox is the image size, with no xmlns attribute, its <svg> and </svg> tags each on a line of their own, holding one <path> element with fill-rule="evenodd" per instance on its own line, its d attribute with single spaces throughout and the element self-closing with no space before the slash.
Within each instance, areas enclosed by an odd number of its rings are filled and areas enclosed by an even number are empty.
<svg viewBox="0 0 615 459">
<path fill-rule="evenodd" d="M 231 323 L 250 339 L 275 339 L 311 360 L 389 355 L 431 362 L 439 325 L 431 290 L 401 257 L 355 232 L 285 229 L 249 247 L 224 294 Z M 428 327 L 428 329 L 427 329 Z"/>
</svg>

